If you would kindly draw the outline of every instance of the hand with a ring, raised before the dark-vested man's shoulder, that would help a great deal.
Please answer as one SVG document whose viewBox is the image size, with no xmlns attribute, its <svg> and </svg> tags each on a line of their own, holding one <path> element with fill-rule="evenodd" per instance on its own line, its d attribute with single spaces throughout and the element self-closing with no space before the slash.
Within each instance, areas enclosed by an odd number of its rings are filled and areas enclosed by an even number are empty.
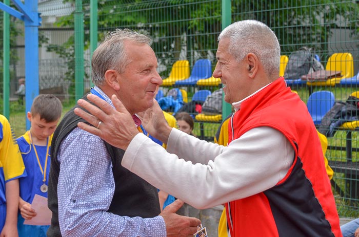
<svg viewBox="0 0 359 237">
<path fill-rule="evenodd" d="M 111 99 L 116 108 L 114 110 L 109 103 L 96 95 L 88 94 L 87 98 L 98 107 L 86 100 L 79 99 L 77 104 L 89 113 L 80 108 L 76 108 L 74 112 L 77 116 L 82 117 L 93 126 L 83 122 L 79 122 L 77 126 L 101 137 L 113 146 L 126 150 L 132 138 L 139 132 L 132 116 L 123 103 L 113 95 Z"/>
</svg>

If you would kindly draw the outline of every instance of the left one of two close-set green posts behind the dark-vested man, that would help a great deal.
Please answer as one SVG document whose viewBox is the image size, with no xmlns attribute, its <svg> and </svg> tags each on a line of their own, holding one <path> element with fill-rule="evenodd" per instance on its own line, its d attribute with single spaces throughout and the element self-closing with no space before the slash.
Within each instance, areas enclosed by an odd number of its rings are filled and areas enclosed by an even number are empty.
<svg viewBox="0 0 359 237">
<path fill-rule="evenodd" d="M 84 12 L 82 0 L 75 2 L 75 99 L 84 95 Z"/>
</svg>

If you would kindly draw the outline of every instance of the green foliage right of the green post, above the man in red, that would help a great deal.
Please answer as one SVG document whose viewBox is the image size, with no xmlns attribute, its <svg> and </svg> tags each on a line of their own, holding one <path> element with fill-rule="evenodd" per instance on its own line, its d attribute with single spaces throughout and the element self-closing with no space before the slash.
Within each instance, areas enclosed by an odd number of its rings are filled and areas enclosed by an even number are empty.
<svg viewBox="0 0 359 237">
<path fill-rule="evenodd" d="M 327 52 L 332 29 L 346 28 L 359 35 L 359 4 L 355 1 L 233 1 L 234 20 L 257 19 L 276 33 L 282 52 L 312 47 Z M 359 38 L 359 37 L 357 37 Z"/>
</svg>

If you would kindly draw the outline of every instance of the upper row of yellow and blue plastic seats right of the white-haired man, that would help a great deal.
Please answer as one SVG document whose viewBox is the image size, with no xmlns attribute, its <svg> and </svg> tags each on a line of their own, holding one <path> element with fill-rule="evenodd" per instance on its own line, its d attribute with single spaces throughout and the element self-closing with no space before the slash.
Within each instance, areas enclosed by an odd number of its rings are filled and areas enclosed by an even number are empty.
<svg viewBox="0 0 359 237">
<path fill-rule="evenodd" d="M 284 76 L 284 72 L 288 63 L 288 56 L 281 56 L 280 76 Z M 341 71 L 341 77 L 330 78 L 326 81 L 305 81 L 301 78 L 298 79 L 286 79 L 289 86 L 307 84 L 309 86 L 331 86 L 334 87 L 337 84 L 341 85 L 358 85 L 359 84 L 359 72 L 354 75 L 353 56 L 351 53 L 334 53 L 328 58 L 328 62 L 325 66 L 326 71 Z"/>
</svg>

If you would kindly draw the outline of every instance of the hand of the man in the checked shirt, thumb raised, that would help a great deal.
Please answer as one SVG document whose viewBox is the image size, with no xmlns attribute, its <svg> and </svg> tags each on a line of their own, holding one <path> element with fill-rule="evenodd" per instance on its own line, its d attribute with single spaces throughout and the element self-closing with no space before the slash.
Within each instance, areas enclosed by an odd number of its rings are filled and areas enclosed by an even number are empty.
<svg viewBox="0 0 359 237">
<path fill-rule="evenodd" d="M 159 214 L 165 220 L 167 236 L 193 236 L 197 232 L 197 226 L 201 225 L 197 218 L 176 214 L 183 204 L 183 201 L 177 199 Z"/>
</svg>

